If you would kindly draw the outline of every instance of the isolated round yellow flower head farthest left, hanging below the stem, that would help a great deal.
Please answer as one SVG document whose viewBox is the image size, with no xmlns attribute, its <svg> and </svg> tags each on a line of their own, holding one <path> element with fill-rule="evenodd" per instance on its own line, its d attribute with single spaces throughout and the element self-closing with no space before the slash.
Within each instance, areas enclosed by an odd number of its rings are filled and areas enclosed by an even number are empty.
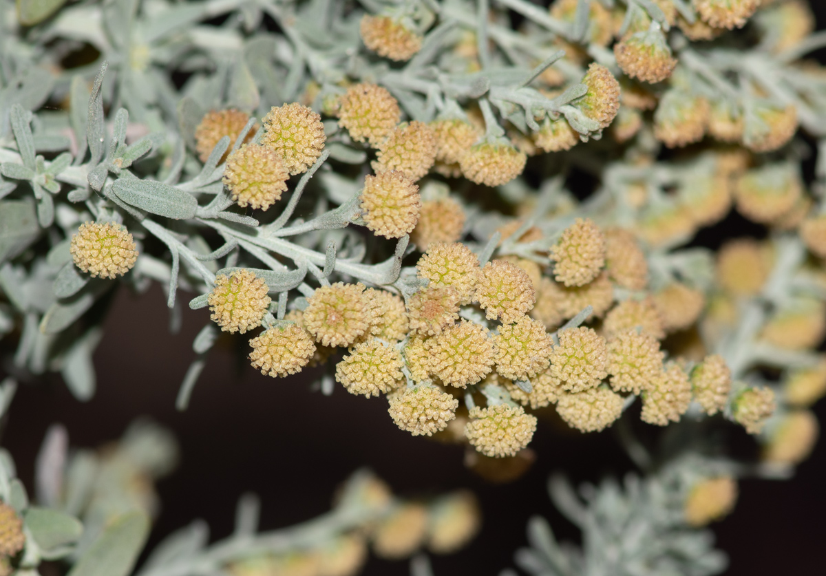
<svg viewBox="0 0 826 576">
<path fill-rule="evenodd" d="M 132 234 L 112 222 L 84 222 L 72 236 L 69 253 L 74 265 L 93 278 L 123 276 L 135 266 L 138 251 Z"/>
</svg>

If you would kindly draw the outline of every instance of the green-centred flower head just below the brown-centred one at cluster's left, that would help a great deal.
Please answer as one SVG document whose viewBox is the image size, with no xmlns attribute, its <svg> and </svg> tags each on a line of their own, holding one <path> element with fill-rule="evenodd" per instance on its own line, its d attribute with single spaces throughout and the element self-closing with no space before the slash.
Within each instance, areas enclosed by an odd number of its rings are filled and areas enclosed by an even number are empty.
<svg viewBox="0 0 826 576">
<path fill-rule="evenodd" d="M 381 340 L 357 344 L 335 366 L 335 380 L 350 394 L 368 398 L 385 394 L 402 383 L 401 354 L 395 346 Z"/>
</svg>

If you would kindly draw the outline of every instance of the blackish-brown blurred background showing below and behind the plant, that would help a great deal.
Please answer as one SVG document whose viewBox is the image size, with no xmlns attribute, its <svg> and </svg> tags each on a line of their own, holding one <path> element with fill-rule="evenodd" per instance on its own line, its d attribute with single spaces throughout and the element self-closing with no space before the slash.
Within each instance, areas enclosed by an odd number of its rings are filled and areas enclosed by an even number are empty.
<svg viewBox="0 0 826 576">
<path fill-rule="evenodd" d="M 812 5 L 819 28 L 826 27 L 826 2 Z M 728 236 L 741 226 L 743 221 L 732 216 L 706 232 L 704 240 L 714 245 L 723 230 Z M 335 487 L 366 465 L 401 495 L 463 487 L 477 493 L 482 534 L 456 555 L 433 557 L 434 573 L 494 575 L 512 565 L 513 551 L 525 545 L 531 515 L 548 517 L 558 535 L 577 538 L 548 501 L 549 474 L 565 470 L 574 480 L 598 481 L 633 470 L 610 432 L 581 435 L 540 420 L 531 445 L 538 458 L 529 473 L 512 484 L 487 484 L 465 469 L 461 447 L 398 430 L 384 399 L 355 397 L 338 385 L 330 398 L 311 392 L 313 373 L 287 380 L 260 375 L 243 360 L 247 338 L 237 335 L 222 338 L 213 349 L 190 408 L 178 413 L 174 402 L 192 360 L 192 338 L 208 321 L 208 312 L 185 310 L 182 331 L 171 335 L 165 300 L 158 286 L 140 296 L 120 290 L 95 354 L 93 400 L 76 401 L 58 375 L 21 385 L 2 438 L 31 489 L 36 451 L 51 423 L 68 428 L 73 446 L 115 439 L 142 415 L 173 429 L 181 462 L 158 484 L 163 510 L 150 547 L 196 517 L 210 524 L 213 540 L 226 536 L 237 498 L 249 490 L 262 498 L 263 530 L 309 519 L 327 511 Z M 826 423 L 826 402 L 815 412 Z M 744 434 L 734 440 L 748 451 Z M 717 545 L 731 559 L 726 574 L 824 574 L 824 480 L 823 441 L 791 481 L 743 480 L 733 515 L 714 525 Z M 371 556 L 363 574 L 401 575 L 408 568 L 404 561 Z"/>
</svg>

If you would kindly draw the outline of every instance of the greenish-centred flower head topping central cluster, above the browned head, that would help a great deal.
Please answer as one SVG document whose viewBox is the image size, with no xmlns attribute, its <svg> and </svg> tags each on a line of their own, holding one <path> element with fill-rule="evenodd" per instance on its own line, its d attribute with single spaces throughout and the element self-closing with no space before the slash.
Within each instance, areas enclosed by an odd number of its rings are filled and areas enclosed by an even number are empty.
<svg viewBox="0 0 826 576">
<path fill-rule="evenodd" d="M 428 286 L 453 288 L 461 304 L 470 304 L 479 277 L 479 259 L 463 243 L 431 243 L 415 266 L 419 276 L 430 281 Z"/>
</svg>

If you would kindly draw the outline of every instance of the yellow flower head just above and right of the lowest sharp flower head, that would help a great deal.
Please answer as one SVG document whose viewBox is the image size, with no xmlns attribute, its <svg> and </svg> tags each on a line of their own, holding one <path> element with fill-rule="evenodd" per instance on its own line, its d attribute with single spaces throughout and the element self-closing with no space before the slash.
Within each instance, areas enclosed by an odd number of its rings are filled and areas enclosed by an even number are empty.
<svg viewBox="0 0 826 576">
<path fill-rule="evenodd" d="M 496 371 L 510 380 L 534 378 L 548 367 L 551 337 L 538 320 L 522 316 L 515 323 L 503 324 L 493 342 Z"/>
</svg>

